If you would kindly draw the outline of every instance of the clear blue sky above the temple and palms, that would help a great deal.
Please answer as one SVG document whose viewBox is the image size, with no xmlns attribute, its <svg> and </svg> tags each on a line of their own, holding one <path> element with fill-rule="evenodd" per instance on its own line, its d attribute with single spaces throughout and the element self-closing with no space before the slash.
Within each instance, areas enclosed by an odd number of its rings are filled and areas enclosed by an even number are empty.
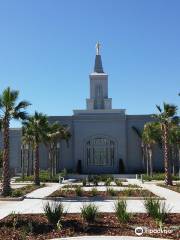
<svg viewBox="0 0 180 240">
<path fill-rule="evenodd" d="M 113 108 L 180 106 L 179 12 L 178 0 L 0 0 L 0 91 L 18 89 L 31 113 L 72 115 L 100 41 Z"/>
</svg>

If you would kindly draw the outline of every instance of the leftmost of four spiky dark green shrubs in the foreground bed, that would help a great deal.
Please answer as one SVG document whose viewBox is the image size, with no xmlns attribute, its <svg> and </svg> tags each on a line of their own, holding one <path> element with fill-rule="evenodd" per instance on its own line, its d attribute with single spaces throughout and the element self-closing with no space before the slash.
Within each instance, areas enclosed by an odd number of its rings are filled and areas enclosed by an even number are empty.
<svg viewBox="0 0 180 240">
<path fill-rule="evenodd" d="M 61 202 L 53 202 L 52 204 L 48 202 L 44 206 L 44 214 L 47 217 L 48 222 L 57 227 L 58 221 L 61 221 L 64 214 L 64 206 Z"/>
</svg>

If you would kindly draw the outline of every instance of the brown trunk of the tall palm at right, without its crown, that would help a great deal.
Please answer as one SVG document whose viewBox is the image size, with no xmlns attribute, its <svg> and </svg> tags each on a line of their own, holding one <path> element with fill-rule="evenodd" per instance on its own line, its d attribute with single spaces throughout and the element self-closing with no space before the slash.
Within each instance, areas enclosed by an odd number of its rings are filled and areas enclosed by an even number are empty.
<svg viewBox="0 0 180 240">
<path fill-rule="evenodd" d="M 169 143 L 168 143 L 168 126 L 163 124 L 163 154 L 164 154 L 164 170 L 165 184 L 172 185 L 172 177 L 169 162 Z"/>
</svg>

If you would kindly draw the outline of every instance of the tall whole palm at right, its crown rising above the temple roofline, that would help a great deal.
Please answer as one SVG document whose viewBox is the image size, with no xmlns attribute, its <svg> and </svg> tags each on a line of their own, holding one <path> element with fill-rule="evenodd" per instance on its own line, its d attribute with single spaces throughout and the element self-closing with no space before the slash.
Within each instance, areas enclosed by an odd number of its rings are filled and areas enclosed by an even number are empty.
<svg viewBox="0 0 180 240">
<path fill-rule="evenodd" d="M 164 169 L 165 169 L 165 183 L 172 185 L 172 176 L 170 169 L 170 158 L 169 158 L 169 134 L 170 128 L 177 124 L 178 117 L 177 106 L 173 104 L 163 104 L 163 109 L 160 106 L 156 106 L 159 114 L 154 115 L 158 120 L 162 130 L 162 144 L 163 144 L 163 155 L 164 155 Z"/>
</svg>

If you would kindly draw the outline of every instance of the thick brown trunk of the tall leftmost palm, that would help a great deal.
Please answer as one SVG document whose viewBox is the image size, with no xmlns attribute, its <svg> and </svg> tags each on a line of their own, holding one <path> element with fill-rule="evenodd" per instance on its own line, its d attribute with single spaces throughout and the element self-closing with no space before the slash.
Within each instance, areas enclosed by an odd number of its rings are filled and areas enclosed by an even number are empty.
<svg viewBox="0 0 180 240">
<path fill-rule="evenodd" d="M 3 179 L 2 179 L 2 195 L 8 196 L 11 194 L 10 186 L 10 172 L 9 172 L 9 119 L 5 116 L 3 121 L 3 140 L 4 140 L 4 151 L 3 151 Z"/>
</svg>

